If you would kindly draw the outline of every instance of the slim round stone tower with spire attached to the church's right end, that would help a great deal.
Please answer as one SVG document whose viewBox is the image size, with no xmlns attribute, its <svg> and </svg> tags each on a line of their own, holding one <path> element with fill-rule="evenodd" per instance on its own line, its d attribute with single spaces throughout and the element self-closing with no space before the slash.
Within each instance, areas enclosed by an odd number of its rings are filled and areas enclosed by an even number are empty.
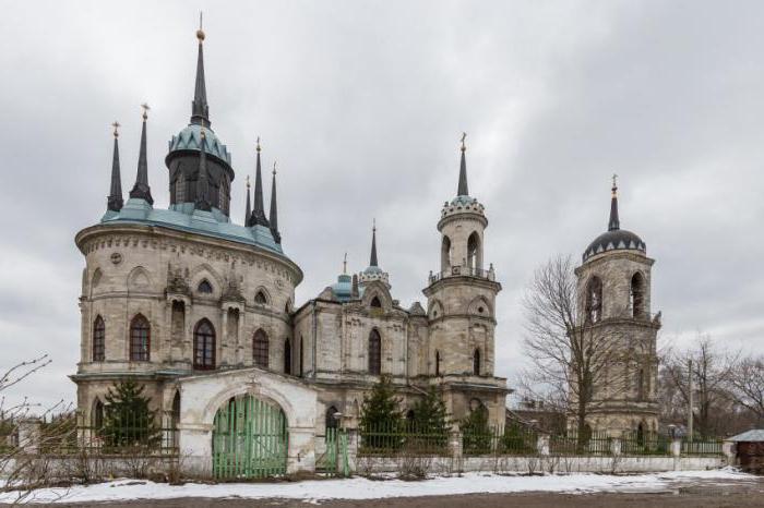
<svg viewBox="0 0 764 508">
<path fill-rule="evenodd" d="M 451 413 L 459 419 L 485 407 L 492 423 L 504 418 L 503 379 L 493 377 L 496 297 L 501 285 L 493 265 L 484 264 L 488 219 L 482 204 L 469 196 L 466 146 L 462 137 L 456 197 L 445 202 L 438 221 L 440 270 L 430 274 L 428 299 L 429 374 L 452 390 Z"/>
</svg>

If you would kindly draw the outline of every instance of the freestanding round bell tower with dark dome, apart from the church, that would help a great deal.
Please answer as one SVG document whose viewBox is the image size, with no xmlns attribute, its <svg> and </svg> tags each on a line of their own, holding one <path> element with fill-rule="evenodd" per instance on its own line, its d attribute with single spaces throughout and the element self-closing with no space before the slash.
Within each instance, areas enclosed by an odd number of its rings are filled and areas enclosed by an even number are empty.
<svg viewBox="0 0 764 508">
<path fill-rule="evenodd" d="M 655 259 L 640 237 L 621 229 L 618 185 L 613 176 L 608 231 L 597 237 L 576 268 L 580 326 L 614 342 L 613 361 L 593 390 L 594 431 L 658 430 L 656 337 L 660 313 L 650 314 Z"/>
</svg>

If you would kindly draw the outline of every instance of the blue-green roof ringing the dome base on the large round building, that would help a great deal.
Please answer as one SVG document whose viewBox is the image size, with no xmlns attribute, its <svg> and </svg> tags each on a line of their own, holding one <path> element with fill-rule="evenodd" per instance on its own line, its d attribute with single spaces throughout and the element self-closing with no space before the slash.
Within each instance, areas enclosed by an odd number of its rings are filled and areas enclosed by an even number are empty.
<svg viewBox="0 0 764 508">
<path fill-rule="evenodd" d="M 284 255 L 282 246 L 275 242 L 268 228 L 264 226 L 247 228 L 235 225 L 217 208 L 213 208 L 212 211 L 198 210 L 194 209 L 193 203 L 172 205 L 170 209 L 165 210 L 152 207 L 145 199 L 130 198 L 120 211 L 107 211 L 100 222 L 162 226 L 178 231 L 256 245 Z"/>
</svg>

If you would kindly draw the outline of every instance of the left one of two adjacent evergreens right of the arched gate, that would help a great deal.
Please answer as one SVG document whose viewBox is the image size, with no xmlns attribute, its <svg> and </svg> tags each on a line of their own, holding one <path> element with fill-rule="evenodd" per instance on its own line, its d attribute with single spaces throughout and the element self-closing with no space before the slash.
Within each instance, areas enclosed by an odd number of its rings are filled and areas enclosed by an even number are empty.
<svg viewBox="0 0 764 508">
<path fill-rule="evenodd" d="M 361 406 L 361 432 L 363 446 L 371 448 L 397 448 L 399 445 L 402 413 L 401 399 L 389 376 L 382 376 L 363 397 Z"/>
</svg>

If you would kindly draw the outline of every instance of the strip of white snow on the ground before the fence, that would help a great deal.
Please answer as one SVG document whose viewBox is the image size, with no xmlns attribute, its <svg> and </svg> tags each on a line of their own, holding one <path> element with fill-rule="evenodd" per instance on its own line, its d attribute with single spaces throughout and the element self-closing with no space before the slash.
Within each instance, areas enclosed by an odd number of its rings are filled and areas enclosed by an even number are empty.
<svg viewBox="0 0 764 508">
<path fill-rule="evenodd" d="M 677 483 L 692 481 L 725 483 L 728 481 L 757 481 L 756 476 L 731 469 L 714 471 L 677 471 L 633 476 L 605 474 L 570 474 L 546 476 L 505 476 L 486 473 L 466 473 L 461 477 L 439 476 L 421 482 L 401 480 L 311 480 L 276 483 L 223 483 L 171 486 L 147 481 L 120 480 L 69 489 L 43 488 L 35 492 L 35 503 L 86 503 L 127 499 L 170 499 L 180 497 L 207 498 L 289 498 L 314 501 L 321 499 L 378 499 L 384 497 L 443 496 L 476 493 L 596 493 L 596 492 L 657 492 Z M 0 494 L 0 504 L 11 503 L 14 493 Z"/>
</svg>

